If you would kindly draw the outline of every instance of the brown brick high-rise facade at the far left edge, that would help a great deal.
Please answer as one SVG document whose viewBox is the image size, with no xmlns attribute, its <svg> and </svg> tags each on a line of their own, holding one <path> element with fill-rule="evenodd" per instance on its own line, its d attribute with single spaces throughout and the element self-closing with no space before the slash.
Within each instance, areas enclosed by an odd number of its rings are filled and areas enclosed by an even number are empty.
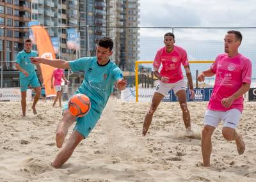
<svg viewBox="0 0 256 182">
<path fill-rule="evenodd" d="M 0 59 L 3 60 L 3 70 L 15 68 L 13 60 L 22 50 L 23 38 L 29 35 L 28 29 L 18 27 L 28 26 L 30 19 L 31 1 L 0 1 L 0 27 L 4 27 L 0 29 Z"/>
</svg>

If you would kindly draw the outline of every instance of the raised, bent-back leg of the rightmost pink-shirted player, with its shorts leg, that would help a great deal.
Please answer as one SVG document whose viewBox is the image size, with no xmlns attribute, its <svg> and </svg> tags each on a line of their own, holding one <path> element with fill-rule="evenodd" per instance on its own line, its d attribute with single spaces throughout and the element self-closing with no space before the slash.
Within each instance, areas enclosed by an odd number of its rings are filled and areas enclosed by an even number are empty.
<svg viewBox="0 0 256 182">
<path fill-rule="evenodd" d="M 239 124 L 240 117 L 241 112 L 237 109 L 231 109 L 225 112 L 225 116 L 223 117 L 224 123 L 222 135 L 228 141 L 235 140 L 237 152 L 239 155 L 242 155 L 245 150 L 245 144 L 242 135 L 236 132 L 236 127 Z"/>
</svg>

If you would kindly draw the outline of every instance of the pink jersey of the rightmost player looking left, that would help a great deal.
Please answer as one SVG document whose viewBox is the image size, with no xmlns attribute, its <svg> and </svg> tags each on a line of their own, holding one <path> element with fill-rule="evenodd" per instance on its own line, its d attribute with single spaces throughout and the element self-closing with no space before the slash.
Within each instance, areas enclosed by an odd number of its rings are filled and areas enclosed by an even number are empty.
<svg viewBox="0 0 256 182">
<path fill-rule="evenodd" d="M 243 95 L 235 100 L 229 108 L 223 107 L 221 100 L 236 93 L 243 82 L 251 83 L 252 63 L 250 59 L 238 54 L 236 57 L 228 57 L 227 54 L 220 54 L 211 65 L 212 72 L 216 73 L 215 84 L 212 91 L 208 109 L 227 111 L 238 109 L 243 111 Z"/>
</svg>

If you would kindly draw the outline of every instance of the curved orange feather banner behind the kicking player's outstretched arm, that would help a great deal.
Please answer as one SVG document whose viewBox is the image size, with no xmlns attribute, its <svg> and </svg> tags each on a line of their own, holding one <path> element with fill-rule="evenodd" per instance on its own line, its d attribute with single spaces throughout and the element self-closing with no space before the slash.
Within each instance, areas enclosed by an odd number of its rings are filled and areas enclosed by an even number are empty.
<svg viewBox="0 0 256 182">
<path fill-rule="evenodd" d="M 49 38 L 49 34 L 42 26 L 31 26 L 33 31 L 35 40 L 36 40 L 36 47 L 38 50 L 38 56 L 44 57 L 47 59 L 56 59 L 54 49 L 52 47 L 51 39 Z M 46 96 L 56 96 L 56 92 L 54 88 L 51 88 L 51 77 L 54 67 L 40 64 L 42 69 L 42 75 L 44 79 L 44 86 L 45 86 L 45 95 Z"/>
</svg>

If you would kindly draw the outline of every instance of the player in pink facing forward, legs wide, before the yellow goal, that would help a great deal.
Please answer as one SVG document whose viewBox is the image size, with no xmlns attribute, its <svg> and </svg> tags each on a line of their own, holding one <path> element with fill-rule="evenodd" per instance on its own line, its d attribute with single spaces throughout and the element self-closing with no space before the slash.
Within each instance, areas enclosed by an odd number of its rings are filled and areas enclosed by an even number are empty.
<svg viewBox="0 0 256 182">
<path fill-rule="evenodd" d="M 189 135 L 192 134 L 190 114 L 186 102 L 186 83 L 183 79 L 181 64 L 185 68 L 186 76 L 189 82 L 189 92 L 191 93 L 192 97 L 195 96 L 195 92 L 193 91 L 193 80 L 189 69 L 187 53 L 181 47 L 174 45 L 174 38 L 175 36 L 173 33 L 164 34 L 165 46 L 157 51 L 154 59 L 154 75 L 159 79 L 159 83 L 157 84 L 156 91 L 152 98 L 150 109 L 144 119 L 142 131 L 143 135 L 146 135 L 151 124 L 153 114 L 156 111 L 159 103 L 171 89 L 173 89 L 175 95 L 179 99 L 186 131 Z M 159 73 L 158 70 L 161 64 L 163 67 Z"/>
</svg>

